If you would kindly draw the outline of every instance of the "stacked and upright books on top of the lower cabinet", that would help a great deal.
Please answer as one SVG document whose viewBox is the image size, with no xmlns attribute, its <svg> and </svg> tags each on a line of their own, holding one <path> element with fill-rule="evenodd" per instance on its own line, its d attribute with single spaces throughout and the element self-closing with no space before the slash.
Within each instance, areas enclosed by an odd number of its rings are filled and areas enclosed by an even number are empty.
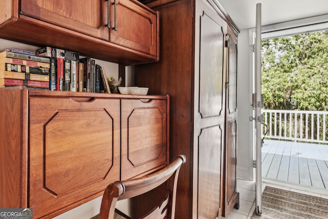
<svg viewBox="0 0 328 219">
<path fill-rule="evenodd" d="M 79 59 L 78 53 L 51 47 L 37 50 L 39 56 L 19 52 L 0 53 L 0 87 L 110 93 L 104 68 L 90 57 Z"/>
</svg>

